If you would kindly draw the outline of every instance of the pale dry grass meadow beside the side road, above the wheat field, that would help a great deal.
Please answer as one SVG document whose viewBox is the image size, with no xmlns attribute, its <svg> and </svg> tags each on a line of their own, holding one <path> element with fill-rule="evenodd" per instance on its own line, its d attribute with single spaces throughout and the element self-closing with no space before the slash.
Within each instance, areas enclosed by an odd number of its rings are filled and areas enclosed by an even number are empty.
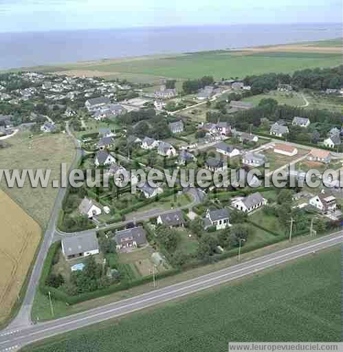
<svg viewBox="0 0 343 352">
<path fill-rule="evenodd" d="M 47 188 L 32 188 L 26 181 L 23 188 L 8 188 L 4 179 L 1 188 L 44 229 L 49 221 L 58 188 L 52 187 L 53 179 L 60 179 L 60 164 L 70 166 L 75 155 L 71 138 L 64 133 L 40 133 L 29 138 L 30 133 L 17 133 L 6 140 L 7 148 L 0 149 L 0 168 L 23 170 L 50 169 Z"/>
</svg>

